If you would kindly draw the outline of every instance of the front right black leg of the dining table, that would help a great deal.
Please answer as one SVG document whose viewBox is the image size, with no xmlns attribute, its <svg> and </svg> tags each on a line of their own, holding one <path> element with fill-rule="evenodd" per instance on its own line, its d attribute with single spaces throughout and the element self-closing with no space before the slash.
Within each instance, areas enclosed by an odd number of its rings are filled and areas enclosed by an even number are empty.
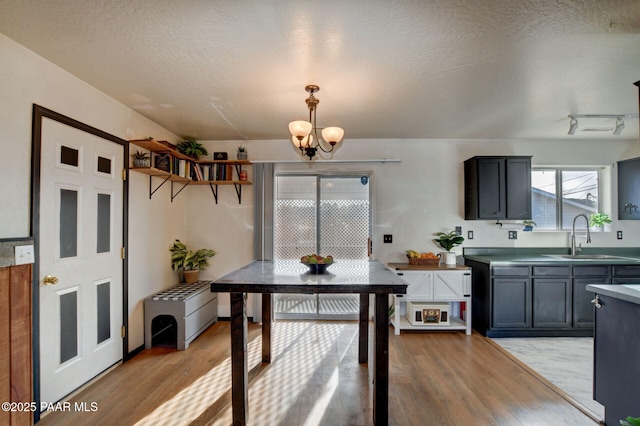
<svg viewBox="0 0 640 426">
<path fill-rule="evenodd" d="M 389 295 L 375 295 L 375 340 L 373 348 L 373 423 L 389 422 Z"/>
</svg>

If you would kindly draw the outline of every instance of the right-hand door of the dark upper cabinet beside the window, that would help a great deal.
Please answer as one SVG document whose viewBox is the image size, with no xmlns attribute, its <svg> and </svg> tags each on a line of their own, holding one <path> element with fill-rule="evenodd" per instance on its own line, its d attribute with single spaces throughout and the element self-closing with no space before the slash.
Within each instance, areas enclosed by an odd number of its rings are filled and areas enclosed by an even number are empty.
<svg viewBox="0 0 640 426">
<path fill-rule="evenodd" d="M 531 219 L 531 158 L 505 160 L 507 219 Z"/>
</svg>

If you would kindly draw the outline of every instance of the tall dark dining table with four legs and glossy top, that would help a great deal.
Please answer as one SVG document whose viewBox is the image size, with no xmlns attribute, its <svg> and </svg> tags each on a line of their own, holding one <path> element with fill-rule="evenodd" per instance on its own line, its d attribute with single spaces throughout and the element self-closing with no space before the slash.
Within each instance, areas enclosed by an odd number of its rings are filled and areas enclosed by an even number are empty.
<svg viewBox="0 0 640 426">
<path fill-rule="evenodd" d="M 231 303 L 231 404 L 233 424 L 249 418 L 247 294 L 262 297 L 262 362 L 271 362 L 271 295 L 273 293 L 360 294 L 358 361 L 368 363 L 369 295 L 375 296 L 373 340 L 373 422 L 389 419 L 389 295 L 405 294 L 407 283 L 375 260 L 338 261 L 324 274 L 310 273 L 294 261 L 253 261 L 215 281 L 212 292 L 227 292 Z"/>
</svg>

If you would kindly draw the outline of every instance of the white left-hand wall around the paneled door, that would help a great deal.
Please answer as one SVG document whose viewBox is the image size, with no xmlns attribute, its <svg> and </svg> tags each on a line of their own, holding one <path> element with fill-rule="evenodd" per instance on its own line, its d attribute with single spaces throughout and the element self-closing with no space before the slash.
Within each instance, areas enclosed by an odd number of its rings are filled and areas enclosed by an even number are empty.
<svg viewBox="0 0 640 426">
<path fill-rule="evenodd" d="M 31 119 L 41 105 L 122 139 L 179 140 L 157 124 L 0 34 L 0 238 L 31 236 Z M 185 238 L 186 199 L 169 188 L 149 200 L 148 177 L 131 174 L 129 347 L 144 344 L 142 298 L 169 287 L 168 248 Z M 171 230 L 171 232 L 169 232 Z M 46 271 L 41 271 L 46 273 Z"/>
</svg>

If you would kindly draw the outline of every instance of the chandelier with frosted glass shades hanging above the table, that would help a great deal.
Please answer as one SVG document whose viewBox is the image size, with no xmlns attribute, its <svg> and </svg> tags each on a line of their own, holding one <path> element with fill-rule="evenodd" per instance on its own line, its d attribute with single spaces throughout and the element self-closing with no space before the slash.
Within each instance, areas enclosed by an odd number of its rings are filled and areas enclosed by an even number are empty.
<svg viewBox="0 0 640 426">
<path fill-rule="evenodd" d="M 331 152 L 333 148 L 342 140 L 344 130 L 340 127 L 322 128 L 322 140 L 318 137 L 318 127 L 316 125 L 316 109 L 320 100 L 314 95 L 320 90 L 315 84 L 310 84 L 304 88 L 309 93 L 309 97 L 305 100 L 309 109 L 309 121 L 296 120 L 289 123 L 289 131 L 291 132 L 291 141 L 293 145 L 300 150 L 301 155 L 306 155 L 312 160 L 316 155 L 316 151 L 320 148 L 324 152 Z M 315 145 L 314 145 L 315 139 Z M 331 145 L 325 149 L 322 143 L 326 142 Z"/>
</svg>

